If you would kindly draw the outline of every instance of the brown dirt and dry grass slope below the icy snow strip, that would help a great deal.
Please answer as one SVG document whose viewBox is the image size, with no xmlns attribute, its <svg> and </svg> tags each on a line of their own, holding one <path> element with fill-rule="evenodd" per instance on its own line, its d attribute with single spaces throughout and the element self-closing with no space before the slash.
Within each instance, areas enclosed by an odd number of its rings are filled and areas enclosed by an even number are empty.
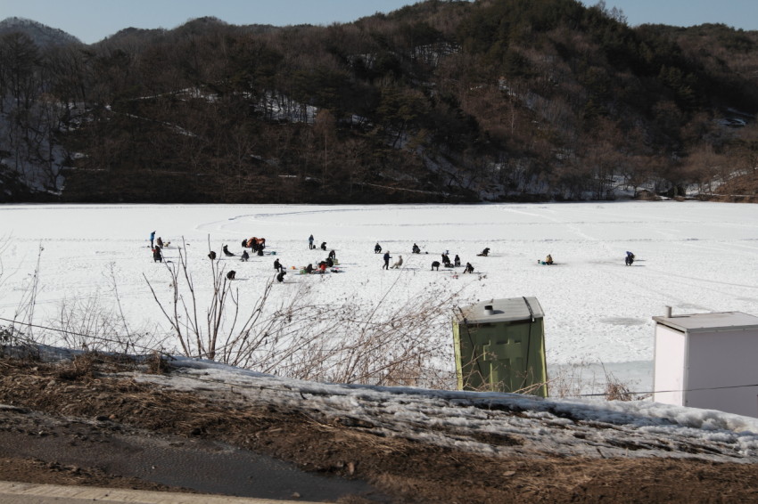
<svg viewBox="0 0 758 504">
<path fill-rule="evenodd" d="M 343 503 L 758 502 L 758 467 L 751 464 L 541 453 L 488 457 L 371 434 L 347 419 L 322 419 L 266 403 L 224 402 L 202 390 L 180 393 L 112 374 L 133 372 L 129 362 L 4 360 L 0 370 L 0 403 L 13 406 L 0 410 L 0 479 L 177 490 L 149 476 L 103 471 L 95 455 L 91 463 L 76 467 L 62 463 L 65 443 L 34 458 L 12 455 L 21 444 L 32 447 L 45 438 L 95 439 L 118 453 L 125 447 L 118 439 L 154 436 L 156 442 L 178 437 L 228 443 L 376 489 L 345 493 L 337 500 Z M 490 435 L 486 441 L 517 442 L 507 435 Z"/>
</svg>

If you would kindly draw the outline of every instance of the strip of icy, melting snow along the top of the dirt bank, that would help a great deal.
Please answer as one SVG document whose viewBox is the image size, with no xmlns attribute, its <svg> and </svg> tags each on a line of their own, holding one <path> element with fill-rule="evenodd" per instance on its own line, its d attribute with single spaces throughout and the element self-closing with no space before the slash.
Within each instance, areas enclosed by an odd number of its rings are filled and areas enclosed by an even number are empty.
<svg viewBox="0 0 758 504">
<path fill-rule="evenodd" d="M 168 376 L 136 375 L 169 389 L 245 407 L 267 404 L 375 435 L 497 456 L 667 457 L 758 462 L 758 419 L 654 402 L 543 400 L 276 378 L 179 359 Z"/>
</svg>

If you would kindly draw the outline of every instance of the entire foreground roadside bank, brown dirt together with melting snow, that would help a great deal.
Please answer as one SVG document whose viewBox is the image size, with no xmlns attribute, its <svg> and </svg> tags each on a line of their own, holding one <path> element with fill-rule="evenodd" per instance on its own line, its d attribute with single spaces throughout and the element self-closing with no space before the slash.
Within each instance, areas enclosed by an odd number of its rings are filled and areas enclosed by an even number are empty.
<svg viewBox="0 0 758 504">
<path fill-rule="evenodd" d="M 169 491 L 172 479 L 209 492 L 227 478 L 227 492 L 260 497 L 264 484 L 254 472 L 243 482 L 231 476 L 233 466 L 223 476 L 198 462 L 189 478 L 184 463 L 170 462 L 172 451 L 217 464 L 253 452 L 334 476 L 333 484 L 352 482 L 338 493 L 345 503 L 754 496 L 758 442 L 747 430 L 755 426 L 713 411 L 325 385 L 207 362 L 159 366 L 97 354 L 0 363 L 0 402 L 12 404 L 0 415 L 15 426 L 0 433 L 0 456 L 9 462 L 0 477 L 15 481 Z M 150 464 L 151 471 L 140 469 Z M 290 471 L 285 488 L 320 500 L 313 483 L 302 484 L 306 477 Z"/>
</svg>

